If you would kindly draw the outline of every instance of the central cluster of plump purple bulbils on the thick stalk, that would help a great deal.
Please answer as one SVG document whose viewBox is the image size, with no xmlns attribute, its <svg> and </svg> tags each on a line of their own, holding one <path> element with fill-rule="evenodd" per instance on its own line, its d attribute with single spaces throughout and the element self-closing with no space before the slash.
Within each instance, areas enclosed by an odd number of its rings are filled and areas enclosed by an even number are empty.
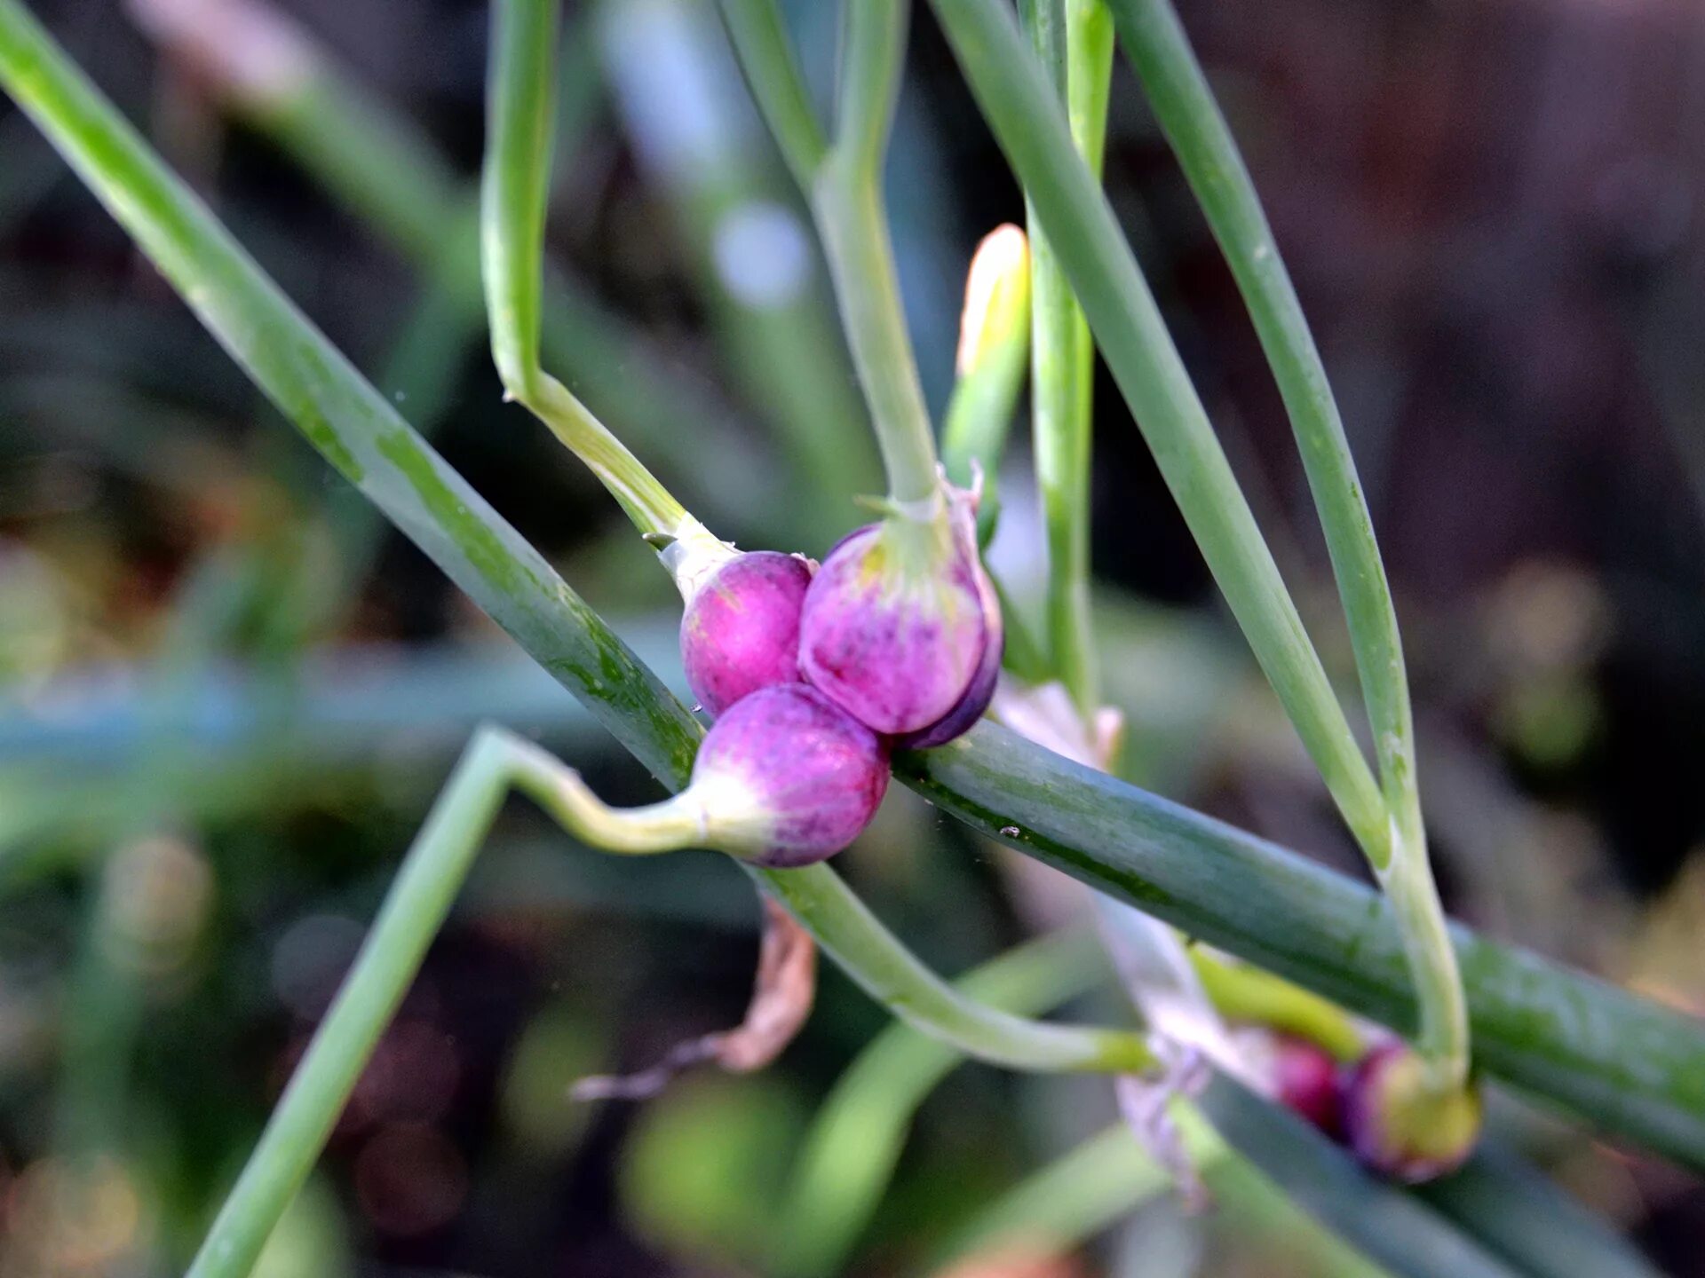
<svg viewBox="0 0 1705 1278">
<path fill-rule="evenodd" d="M 887 523 L 842 538 L 822 567 L 733 554 L 687 590 L 687 687 L 714 719 L 692 767 L 708 803 L 762 811 L 745 850 L 808 866 L 851 843 L 888 789 L 895 748 L 951 741 L 987 709 L 1001 608 L 977 556 L 968 494 L 924 569 L 893 562 Z"/>
</svg>

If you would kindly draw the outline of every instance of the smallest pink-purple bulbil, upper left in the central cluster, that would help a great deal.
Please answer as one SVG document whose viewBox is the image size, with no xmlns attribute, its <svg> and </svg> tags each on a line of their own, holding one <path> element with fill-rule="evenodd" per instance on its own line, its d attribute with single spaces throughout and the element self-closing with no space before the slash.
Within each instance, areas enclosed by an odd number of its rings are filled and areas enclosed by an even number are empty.
<svg viewBox="0 0 1705 1278">
<path fill-rule="evenodd" d="M 680 619 L 687 687 L 713 717 L 772 683 L 800 680 L 800 610 L 810 566 L 779 550 L 730 559 Z"/>
</svg>

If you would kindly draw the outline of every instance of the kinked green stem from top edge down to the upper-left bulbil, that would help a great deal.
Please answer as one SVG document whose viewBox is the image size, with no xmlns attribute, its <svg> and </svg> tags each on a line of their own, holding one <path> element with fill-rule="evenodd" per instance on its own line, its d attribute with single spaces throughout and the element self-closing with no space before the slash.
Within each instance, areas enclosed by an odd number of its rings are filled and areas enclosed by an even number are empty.
<svg viewBox="0 0 1705 1278">
<path fill-rule="evenodd" d="M 493 5 L 479 237 L 491 354 L 508 394 L 587 463 L 639 532 L 675 535 L 687 518 L 682 504 L 539 366 L 558 43 L 554 0 Z"/>
</svg>

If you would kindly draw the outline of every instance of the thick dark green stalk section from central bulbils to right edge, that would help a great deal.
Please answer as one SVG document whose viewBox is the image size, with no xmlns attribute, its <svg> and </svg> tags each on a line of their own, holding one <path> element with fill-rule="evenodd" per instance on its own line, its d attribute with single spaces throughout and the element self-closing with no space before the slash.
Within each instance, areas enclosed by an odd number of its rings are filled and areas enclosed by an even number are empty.
<svg viewBox="0 0 1705 1278">
<path fill-rule="evenodd" d="M 897 774 L 938 808 L 1110 896 L 1402 1031 L 1395 907 L 1316 862 L 979 724 Z M 1705 1026 L 1451 927 L 1488 1074 L 1705 1166 Z"/>
</svg>

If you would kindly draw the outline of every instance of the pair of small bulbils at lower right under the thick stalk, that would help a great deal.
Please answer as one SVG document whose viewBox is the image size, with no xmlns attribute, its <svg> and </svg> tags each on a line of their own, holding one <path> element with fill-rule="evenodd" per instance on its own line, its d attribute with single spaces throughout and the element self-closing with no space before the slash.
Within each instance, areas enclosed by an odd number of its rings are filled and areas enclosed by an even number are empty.
<svg viewBox="0 0 1705 1278">
<path fill-rule="evenodd" d="M 1439 1096 L 1425 1085 L 1420 1055 L 1395 1039 L 1342 1063 L 1303 1038 L 1272 1043 L 1274 1097 L 1369 1171 L 1419 1184 L 1456 1171 L 1480 1135 L 1480 1094 L 1470 1084 Z"/>
</svg>

